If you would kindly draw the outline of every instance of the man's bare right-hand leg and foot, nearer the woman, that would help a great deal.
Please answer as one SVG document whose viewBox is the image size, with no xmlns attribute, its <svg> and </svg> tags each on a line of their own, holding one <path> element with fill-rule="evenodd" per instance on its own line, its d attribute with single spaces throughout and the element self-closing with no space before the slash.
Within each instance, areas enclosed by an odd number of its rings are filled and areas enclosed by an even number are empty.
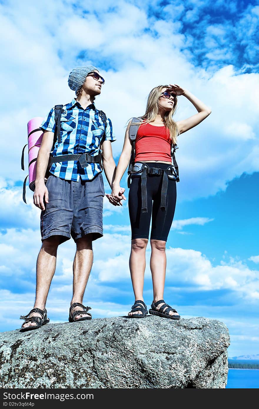
<svg viewBox="0 0 259 409">
<path fill-rule="evenodd" d="M 92 234 L 87 234 L 85 237 L 81 237 L 77 240 L 77 251 L 74 256 L 73 263 L 73 297 L 70 305 L 73 303 L 83 304 L 83 294 L 86 290 L 86 284 L 91 272 L 93 262 L 92 252 Z M 83 310 L 82 307 L 74 307 L 72 313 L 77 310 Z M 89 314 L 78 314 L 75 316 L 75 320 L 89 316 Z"/>
</svg>

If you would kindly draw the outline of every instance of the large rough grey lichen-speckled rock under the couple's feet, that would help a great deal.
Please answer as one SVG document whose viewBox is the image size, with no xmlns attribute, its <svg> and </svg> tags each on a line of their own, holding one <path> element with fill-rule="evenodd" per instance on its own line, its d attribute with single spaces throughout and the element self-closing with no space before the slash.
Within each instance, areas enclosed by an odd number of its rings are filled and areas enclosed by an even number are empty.
<svg viewBox="0 0 259 409">
<path fill-rule="evenodd" d="M 113 317 L 0 333 L 1 388 L 225 388 L 225 324 Z"/>
</svg>

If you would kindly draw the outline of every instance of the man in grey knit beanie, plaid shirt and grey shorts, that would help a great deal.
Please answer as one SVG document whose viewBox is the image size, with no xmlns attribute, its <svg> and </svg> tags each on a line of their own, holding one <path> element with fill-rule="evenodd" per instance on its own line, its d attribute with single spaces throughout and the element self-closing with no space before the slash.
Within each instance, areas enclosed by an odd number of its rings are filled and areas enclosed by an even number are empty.
<svg viewBox="0 0 259 409">
<path fill-rule="evenodd" d="M 70 72 L 68 85 L 76 92 L 77 97 L 63 106 L 60 138 L 57 138 L 52 152 L 53 163 L 46 185 L 44 178 L 56 128 L 53 108 L 41 124 L 44 133 L 37 158 L 33 200 L 34 205 L 41 209 L 42 247 L 36 265 L 34 309 L 21 317 L 25 319 L 22 330 L 35 329 L 49 322 L 45 304 L 56 268 L 57 248 L 70 239 L 70 234 L 77 249 L 73 263 L 73 296 L 69 321 L 92 317 L 88 312 L 90 307 L 83 306 L 83 294 L 92 268 L 92 241 L 103 236 L 105 192 L 98 155 L 101 153 L 102 166 L 111 188 L 116 171 L 111 147 L 111 142 L 115 140 L 112 124 L 107 119 L 105 129 L 105 118 L 102 117 L 104 121 L 101 119 L 94 103 L 103 84 L 104 79 L 96 67 L 80 67 Z M 88 156 L 83 155 L 84 153 Z M 57 162 L 60 155 L 76 154 L 80 155 L 80 162 L 68 160 L 68 157 L 66 161 L 64 157 L 62 162 Z M 81 158 L 84 159 L 83 162 Z M 124 191 L 122 188 L 122 198 L 125 199 Z M 121 202 L 113 204 L 121 205 Z"/>
</svg>

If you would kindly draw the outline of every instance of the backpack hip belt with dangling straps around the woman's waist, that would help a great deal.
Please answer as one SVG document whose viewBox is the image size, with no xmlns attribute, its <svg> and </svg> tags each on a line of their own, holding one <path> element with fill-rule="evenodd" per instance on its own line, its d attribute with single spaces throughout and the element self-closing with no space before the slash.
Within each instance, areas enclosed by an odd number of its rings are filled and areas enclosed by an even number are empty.
<svg viewBox="0 0 259 409">
<path fill-rule="evenodd" d="M 135 169 L 134 169 L 135 168 Z M 146 175 L 163 175 L 162 188 L 161 188 L 161 202 L 160 207 L 162 211 L 166 210 L 166 200 L 167 200 L 167 188 L 168 179 L 179 181 L 179 176 L 176 173 L 176 169 L 173 165 L 169 166 L 167 169 L 160 168 L 150 168 L 146 164 L 137 164 L 133 166 L 132 171 L 129 174 L 128 182 L 131 176 L 139 175 L 141 176 L 141 211 L 142 213 L 147 213 L 147 191 L 146 191 Z"/>
</svg>

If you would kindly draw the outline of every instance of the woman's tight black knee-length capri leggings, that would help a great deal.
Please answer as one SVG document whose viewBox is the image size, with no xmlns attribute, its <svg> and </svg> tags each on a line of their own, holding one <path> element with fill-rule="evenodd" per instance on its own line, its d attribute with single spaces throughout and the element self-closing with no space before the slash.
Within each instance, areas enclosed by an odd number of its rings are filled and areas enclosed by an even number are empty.
<svg viewBox="0 0 259 409">
<path fill-rule="evenodd" d="M 146 162 L 146 165 L 160 169 L 167 169 L 169 166 L 169 164 L 161 162 Z M 141 213 L 141 177 L 132 177 L 128 194 L 131 240 L 134 238 L 149 238 L 152 215 L 150 238 L 167 241 L 176 208 L 176 181 L 168 179 L 166 211 L 162 211 L 160 208 L 162 181 L 162 175 L 146 175 L 147 213 Z"/>
</svg>

